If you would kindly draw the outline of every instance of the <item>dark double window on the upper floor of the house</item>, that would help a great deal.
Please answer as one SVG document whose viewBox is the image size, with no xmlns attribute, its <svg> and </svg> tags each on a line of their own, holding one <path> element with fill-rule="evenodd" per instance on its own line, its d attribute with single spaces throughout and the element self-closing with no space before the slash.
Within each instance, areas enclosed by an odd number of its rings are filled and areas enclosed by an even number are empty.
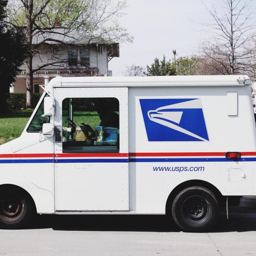
<svg viewBox="0 0 256 256">
<path fill-rule="evenodd" d="M 68 49 L 69 66 L 90 66 L 89 49 Z"/>
</svg>

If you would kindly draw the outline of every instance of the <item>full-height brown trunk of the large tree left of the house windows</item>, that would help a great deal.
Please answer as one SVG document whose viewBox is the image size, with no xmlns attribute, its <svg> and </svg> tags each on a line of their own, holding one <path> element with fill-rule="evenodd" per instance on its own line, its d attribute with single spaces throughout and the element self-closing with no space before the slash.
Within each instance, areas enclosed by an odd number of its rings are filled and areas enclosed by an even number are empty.
<svg viewBox="0 0 256 256">
<path fill-rule="evenodd" d="M 26 12 L 26 39 L 27 44 L 32 44 L 32 11 L 33 0 L 24 0 Z M 33 68 L 32 52 L 26 58 L 26 108 L 33 108 Z"/>
</svg>

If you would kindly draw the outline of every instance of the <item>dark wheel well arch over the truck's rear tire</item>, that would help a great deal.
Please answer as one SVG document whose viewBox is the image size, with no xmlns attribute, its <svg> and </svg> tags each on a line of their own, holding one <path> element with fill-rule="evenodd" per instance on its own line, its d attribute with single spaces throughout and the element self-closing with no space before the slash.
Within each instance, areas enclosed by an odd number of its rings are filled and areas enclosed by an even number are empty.
<svg viewBox="0 0 256 256">
<path fill-rule="evenodd" d="M 225 204 L 225 197 L 221 194 L 221 192 L 213 186 L 211 183 L 204 181 L 204 180 L 186 180 L 183 183 L 180 183 L 178 186 L 176 186 L 170 195 L 167 198 L 166 201 L 166 214 L 171 214 L 172 212 L 172 202 L 175 198 L 175 196 L 182 191 L 183 189 L 186 189 L 187 187 L 190 186 L 203 186 L 207 189 L 210 189 L 218 198 L 218 201 L 220 203 L 220 206 L 223 207 Z"/>
</svg>

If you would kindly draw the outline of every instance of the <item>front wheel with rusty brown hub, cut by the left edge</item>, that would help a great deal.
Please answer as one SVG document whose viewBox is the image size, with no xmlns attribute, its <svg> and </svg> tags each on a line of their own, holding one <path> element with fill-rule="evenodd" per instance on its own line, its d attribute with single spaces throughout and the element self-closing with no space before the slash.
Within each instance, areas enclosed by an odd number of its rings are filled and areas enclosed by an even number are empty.
<svg viewBox="0 0 256 256">
<path fill-rule="evenodd" d="M 0 190 L 0 228 L 20 229 L 34 213 L 32 200 L 18 189 Z"/>
</svg>

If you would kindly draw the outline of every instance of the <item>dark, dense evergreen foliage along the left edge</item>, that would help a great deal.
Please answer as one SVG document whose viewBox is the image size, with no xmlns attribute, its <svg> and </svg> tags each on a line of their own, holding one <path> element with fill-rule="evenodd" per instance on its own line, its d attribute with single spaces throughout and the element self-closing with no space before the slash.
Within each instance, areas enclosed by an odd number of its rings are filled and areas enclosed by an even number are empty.
<svg viewBox="0 0 256 256">
<path fill-rule="evenodd" d="M 0 1 L 0 112 L 7 111 L 10 85 L 15 81 L 15 76 L 20 65 L 26 58 L 27 47 L 25 37 L 19 29 L 11 28 L 4 22 L 6 18 L 7 0 Z"/>
</svg>

